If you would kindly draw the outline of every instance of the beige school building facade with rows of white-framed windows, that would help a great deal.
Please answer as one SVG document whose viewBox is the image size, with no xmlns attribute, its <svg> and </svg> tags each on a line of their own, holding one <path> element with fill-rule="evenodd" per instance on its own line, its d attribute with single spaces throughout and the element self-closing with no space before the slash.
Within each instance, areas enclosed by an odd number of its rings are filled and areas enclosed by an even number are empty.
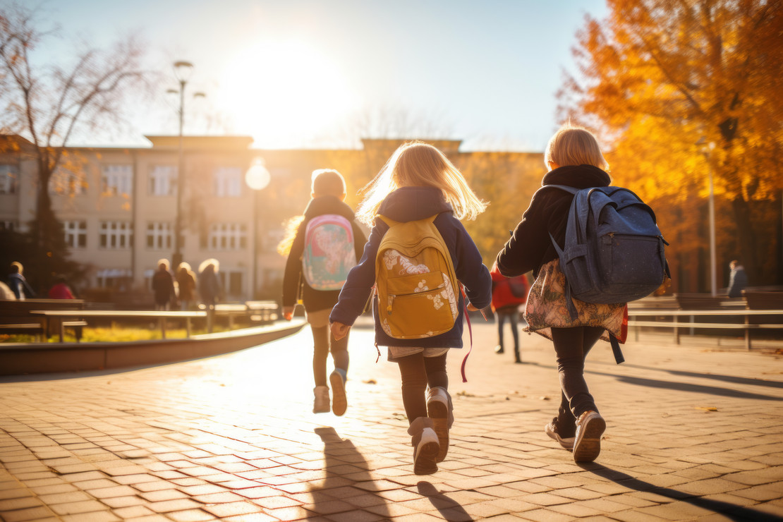
<svg viewBox="0 0 783 522">
<path fill-rule="evenodd" d="M 88 266 L 85 288 L 149 291 L 157 261 L 171 261 L 175 252 L 177 191 L 182 188 L 182 259 L 196 272 L 202 261 L 217 259 L 229 301 L 278 297 L 285 258 L 276 246 L 284 221 L 301 214 L 309 200 L 313 170 L 341 171 L 348 181 L 347 203 L 355 207 L 356 190 L 403 142 L 364 140 L 361 149 L 261 150 L 251 147 L 249 136 L 186 136 L 180 184 L 179 138 L 146 139 L 146 148 L 68 147 L 49 183 L 71 258 Z M 460 153 L 456 140 L 431 143 L 468 170 L 471 164 L 492 163 L 497 154 Z M 24 231 L 34 218 L 38 184 L 30 147 L 0 153 L 2 228 Z M 541 164 L 539 153 L 502 154 L 506 161 L 511 154 L 515 165 Z M 258 164 L 269 172 L 269 184 L 254 190 L 245 176 Z M 540 176 L 531 168 L 531 178 Z"/>
</svg>

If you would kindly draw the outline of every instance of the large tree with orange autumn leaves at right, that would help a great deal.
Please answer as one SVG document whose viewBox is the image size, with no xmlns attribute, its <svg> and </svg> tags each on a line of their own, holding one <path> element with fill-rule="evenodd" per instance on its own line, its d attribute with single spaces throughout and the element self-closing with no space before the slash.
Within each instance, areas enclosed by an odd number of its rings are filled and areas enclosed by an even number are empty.
<svg viewBox="0 0 783 522">
<path fill-rule="evenodd" d="M 613 173 L 648 200 L 682 203 L 695 186 L 703 198 L 711 171 L 745 267 L 759 273 L 776 257 L 775 242 L 762 239 L 779 219 L 760 209 L 780 209 L 783 189 L 783 3 L 608 0 L 608 8 L 578 34 L 579 77 L 559 95 L 561 116 L 597 129 L 612 144 Z M 767 281 L 774 272 L 767 267 Z"/>
</svg>

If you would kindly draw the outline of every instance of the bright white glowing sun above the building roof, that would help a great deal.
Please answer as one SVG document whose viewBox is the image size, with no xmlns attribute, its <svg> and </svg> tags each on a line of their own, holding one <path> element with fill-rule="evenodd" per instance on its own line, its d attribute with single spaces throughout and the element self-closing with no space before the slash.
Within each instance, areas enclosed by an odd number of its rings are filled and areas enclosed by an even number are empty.
<svg viewBox="0 0 783 522">
<path fill-rule="evenodd" d="M 301 146 L 327 135 L 355 103 L 334 63 L 296 41 L 240 52 L 227 64 L 218 95 L 236 131 L 265 148 Z"/>
</svg>

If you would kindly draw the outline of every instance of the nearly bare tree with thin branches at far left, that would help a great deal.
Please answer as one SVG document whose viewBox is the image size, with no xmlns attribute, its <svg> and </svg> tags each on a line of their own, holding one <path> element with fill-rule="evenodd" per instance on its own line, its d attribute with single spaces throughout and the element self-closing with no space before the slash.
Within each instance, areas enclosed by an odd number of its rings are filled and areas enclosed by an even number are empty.
<svg viewBox="0 0 783 522">
<path fill-rule="evenodd" d="M 55 49 L 57 34 L 41 25 L 37 13 L 23 5 L 0 7 L 0 127 L 32 144 L 38 178 L 31 233 L 35 257 L 52 265 L 66 254 L 49 195 L 52 175 L 67 158 L 65 147 L 74 134 L 117 121 L 124 94 L 143 79 L 142 51 L 129 38 L 113 49 L 85 49 L 73 60 L 47 63 L 45 52 Z M 51 269 L 43 272 L 45 279 L 52 275 Z"/>
</svg>

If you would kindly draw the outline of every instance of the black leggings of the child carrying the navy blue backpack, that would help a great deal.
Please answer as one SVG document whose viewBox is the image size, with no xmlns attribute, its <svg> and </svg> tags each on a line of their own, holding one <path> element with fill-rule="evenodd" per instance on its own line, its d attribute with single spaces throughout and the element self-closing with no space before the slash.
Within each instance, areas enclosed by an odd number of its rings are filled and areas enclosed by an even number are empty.
<svg viewBox="0 0 783 522">
<path fill-rule="evenodd" d="M 570 427 L 576 419 L 588 410 L 598 411 L 593 396 L 587 389 L 584 369 L 585 358 L 590 348 L 604 333 L 596 326 L 578 326 L 576 328 L 553 328 L 552 341 L 557 354 L 557 373 L 560 375 L 560 409 L 557 412 L 558 424 L 564 427 L 561 437 L 572 437 Z M 575 428 L 576 429 L 576 428 Z"/>
</svg>

